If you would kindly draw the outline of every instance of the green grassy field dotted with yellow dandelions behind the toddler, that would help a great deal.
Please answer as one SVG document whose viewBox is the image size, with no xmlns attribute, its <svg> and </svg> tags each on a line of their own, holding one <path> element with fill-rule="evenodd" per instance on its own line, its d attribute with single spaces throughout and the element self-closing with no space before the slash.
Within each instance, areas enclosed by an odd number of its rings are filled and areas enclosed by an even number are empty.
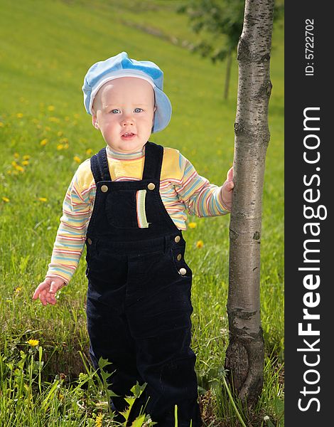
<svg viewBox="0 0 334 427">
<path fill-rule="evenodd" d="M 181 41 L 197 36 L 187 18 L 174 11 L 180 1 L 120 3 L 0 0 L 1 426 L 112 425 L 103 384 L 85 359 L 85 260 L 70 285 L 58 292 L 55 307 L 31 300 L 50 262 L 72 175 L 79 162 L 104 146 L 83 107 L 87 68 L 121 51 L 158 63 L 173 116 L 168 128 L 150 140 L 180 149 L 213 184 L 221 185 L 232 165 L 236 61 L 225 101 L 225 63 L 213 65 L 182 47 Z M 265 382 L 257 408 L 249 414 L 239 410 L 245 425 L 252 426 L 284 423 L 283 72 L 283 31 L 277 27 L 262 222 Z M 196 370 L 205 421 L 214 426 L 242 425 L 222 378 L 229 220 L 189 216 L 197 226 L 184 233 L 193 270 Z M 197 247 L 198 241 L 203 247 Z M 29 339 L 38 339 L 38 345 L 28 344 Z"/>
</svg>

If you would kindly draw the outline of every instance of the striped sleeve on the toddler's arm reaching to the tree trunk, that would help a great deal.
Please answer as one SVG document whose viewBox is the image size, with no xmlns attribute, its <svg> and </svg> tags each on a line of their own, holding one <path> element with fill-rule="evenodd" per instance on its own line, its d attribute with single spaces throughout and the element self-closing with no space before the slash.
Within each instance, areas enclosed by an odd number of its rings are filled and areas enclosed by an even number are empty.
<svg viewBox="0 0 334 427">
<path fill-rule="evenodd" d="M 220 216 L 229 214 L 222 201 L 222 186 L 210 184 L 208 179 L 196 172 L 193 164 L 179 154 L 181 182 L 176 185 L 178 197 L 183 201 L 190 215 Z"/>
</svg>

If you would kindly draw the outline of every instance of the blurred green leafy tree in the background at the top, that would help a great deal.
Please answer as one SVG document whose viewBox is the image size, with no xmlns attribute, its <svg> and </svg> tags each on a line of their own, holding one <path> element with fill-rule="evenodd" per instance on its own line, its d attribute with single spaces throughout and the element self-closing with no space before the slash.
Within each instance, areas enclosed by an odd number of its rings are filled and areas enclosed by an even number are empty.
<svg viewBox="0 0 334 427">
<path fill-rule="evenodd" d="M 284 11 L 283 0 L 276 1 L 274 19 L 279 19 Z M 226 59 L 224 99 L 228 97 L 233 54 L 242 31 L 244 20 L 244 0 L 188 0 L 178 9 L 187 14 L 195 33 L 211 33 L 211 40 L 202 39 L 191 45 L 190 50 L 209 56 L 213 63 Z M 224 36 L 223 43 L 220 37 Z"/>
</svg>

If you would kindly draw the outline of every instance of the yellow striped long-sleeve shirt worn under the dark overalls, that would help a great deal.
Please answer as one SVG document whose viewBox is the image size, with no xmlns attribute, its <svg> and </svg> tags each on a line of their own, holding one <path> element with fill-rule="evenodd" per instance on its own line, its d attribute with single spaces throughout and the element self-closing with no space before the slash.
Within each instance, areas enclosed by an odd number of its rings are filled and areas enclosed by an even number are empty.
<svg viewBox="0 0 334 427">
<path fill-rule="evenodd" d="M 120 153 L 110 147 L 107 159 L 112 181 L 141 180 L 145 147 L 139 152 Z M 160 194 L 166 211 L 176 227 L 185 230 L 188 211 L 196 216 L 228 214 L 222 201 L 221 186 L 200 176 L 178 149 L 163 148 Z M 75 172 L 63 201 L 63 216 L 55 238 L 46 277 L 62 278 L 68 283 L 75 272 L 85 246 L 87 226 L 92 215 L 96 185 L 85 160 Z"/>
</svg>

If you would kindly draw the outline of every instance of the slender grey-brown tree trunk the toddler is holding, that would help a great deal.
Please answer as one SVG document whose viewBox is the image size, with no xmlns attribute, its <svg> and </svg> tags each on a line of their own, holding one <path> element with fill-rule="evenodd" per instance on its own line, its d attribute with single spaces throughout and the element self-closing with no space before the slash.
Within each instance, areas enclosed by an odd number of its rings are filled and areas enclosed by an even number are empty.
<svg viewBox="0 0 334 427">
<path fill-rule="evenodd" d="M 269 60 L 274 0 L 246 0 L 237 60 L 239 81 L 230 219 L 227 314 L 230 344 L 225 367 L 239 397 L 252 406 L 263 386 L 260 318 L 260 238 L 266 148 L 269 143 Z"/>
</svg>

